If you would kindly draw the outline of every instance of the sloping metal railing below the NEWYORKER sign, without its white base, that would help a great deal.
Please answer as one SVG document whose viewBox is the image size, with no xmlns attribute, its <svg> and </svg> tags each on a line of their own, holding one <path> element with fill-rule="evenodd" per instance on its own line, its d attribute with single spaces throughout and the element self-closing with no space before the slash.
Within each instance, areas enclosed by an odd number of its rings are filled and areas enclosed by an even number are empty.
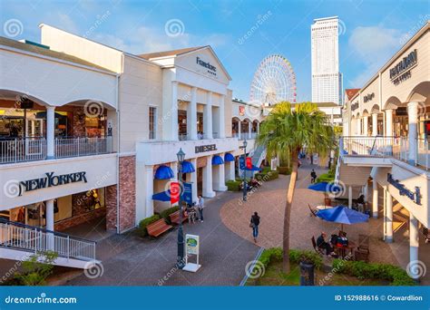
<svg viewBox="0 0 430 310">
<path fill-rule="evenodd" d="M 34 254 L 54 251 L 58 257 L 95 259 L 96 242 L 0 218 L 0 247 Z"/>
</svg>

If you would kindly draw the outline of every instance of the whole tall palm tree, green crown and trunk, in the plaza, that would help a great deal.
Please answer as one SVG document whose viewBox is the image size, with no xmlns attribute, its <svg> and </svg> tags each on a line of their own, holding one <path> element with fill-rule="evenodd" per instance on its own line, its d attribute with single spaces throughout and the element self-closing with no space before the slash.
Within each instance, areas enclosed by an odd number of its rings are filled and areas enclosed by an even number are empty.
<svg viewBox="0 0 430 310">
<path fill-rule="evenodd" d="M 291 176 L 287 191 L 283 232 L 283 271 L 289 273 L 289 219 L 294 189 L 298 177 L 298 154 L 306 146 L 310 152 L 326 154 L 333 147 L 333 129 L 327 116 L 316 104 L 302 102 L 291 108 L 289 102 L 279 102 L 260 125 L 257 144 L 264 145 L 268 158 L 289 158 Z"/>
</svg>

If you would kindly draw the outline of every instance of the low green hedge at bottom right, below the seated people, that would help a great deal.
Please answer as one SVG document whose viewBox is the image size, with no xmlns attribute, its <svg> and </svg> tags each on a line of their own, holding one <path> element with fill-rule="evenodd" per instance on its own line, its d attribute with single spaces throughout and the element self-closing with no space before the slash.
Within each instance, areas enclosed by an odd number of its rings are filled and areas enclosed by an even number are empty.
<svg viewBox="0 0 430 310">
<path fill-rule="evenodd" d="M 399 266 L 363 261 L 333 260 L 333 270 L 359 279 L 375 278 L 391 282 L 392 286 L 415 286 L 415 281 Z"/>
</svg>

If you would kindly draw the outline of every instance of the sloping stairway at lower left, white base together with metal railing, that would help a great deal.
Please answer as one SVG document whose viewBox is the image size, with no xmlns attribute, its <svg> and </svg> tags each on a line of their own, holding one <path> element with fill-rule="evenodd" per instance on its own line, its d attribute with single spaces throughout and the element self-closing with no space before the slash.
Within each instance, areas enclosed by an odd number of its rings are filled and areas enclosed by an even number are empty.
<svg viewBox="0 0 430 310">
<path fill-rule="evenodd" d="M 95 241 L 0 218 L 0 258 L 24 260 L 54 251 L 54 265 L 88 268 L 96 263 Z"/>
</svg>

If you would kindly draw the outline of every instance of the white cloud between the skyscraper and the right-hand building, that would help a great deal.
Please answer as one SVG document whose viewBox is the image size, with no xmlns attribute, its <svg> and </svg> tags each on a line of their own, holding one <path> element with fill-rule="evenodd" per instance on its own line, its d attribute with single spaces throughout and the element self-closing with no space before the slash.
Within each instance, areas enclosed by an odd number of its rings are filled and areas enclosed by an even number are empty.
<svg viewBox="0 0 430 310">
<path fill-rule="evenodd" d="M 357 27 L 348 40 L 352 52 L 350 60 L 364 63 L 366 69 L 351 80 L 351 86 L 361 87 L 400 48 L 399 30 L 382 26 Z"/>
</svg>

